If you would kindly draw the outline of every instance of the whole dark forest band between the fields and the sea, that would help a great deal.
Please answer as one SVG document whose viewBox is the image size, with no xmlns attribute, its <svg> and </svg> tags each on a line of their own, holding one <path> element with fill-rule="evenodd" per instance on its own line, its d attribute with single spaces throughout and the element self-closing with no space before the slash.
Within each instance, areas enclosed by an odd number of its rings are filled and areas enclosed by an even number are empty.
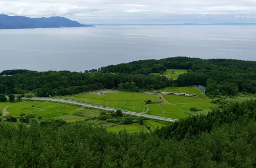
<svg viewBox="0 0 256 168">
<path fill-rule="evenodd" d="M 206 86 L 210 97 L 236 95 L 238 92 L 256 93 L 256 62 L 189 57 L 171 57 L 162 60 L 141 60 L 99 69 L 78 72 L 35 72 L 30 70 L 5 70 L 0 77 L 0 93 L 37 92 L 38 96 L 69 95 L 95 89 L 120 88 L 127 91 L 159 89 L 167 86 Z M 166 69 L 186 69 L 188 73 L 178 79 L 150 75 Z M 135 82 L 126 88 L 125 83 Z M 121 86 L 119 86 L 121 84 Z"/>
</svg>

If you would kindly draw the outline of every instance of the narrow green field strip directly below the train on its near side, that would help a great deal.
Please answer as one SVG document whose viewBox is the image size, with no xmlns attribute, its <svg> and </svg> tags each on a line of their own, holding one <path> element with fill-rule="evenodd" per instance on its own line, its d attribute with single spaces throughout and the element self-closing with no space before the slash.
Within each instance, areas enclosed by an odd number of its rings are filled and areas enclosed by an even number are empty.
<svg viewBox="0 0 256 168">
<path fill-rule="evenodd" d="M 199 102 L 210 102 L 211 101 L 211 99 L 192 98 L 192 97 L 187 97 L 187 96 L 166 95 L 166 94 L 163 94 L 163 98 L 166 99 L 171 104 L 199 103 Z"/>
</svg>

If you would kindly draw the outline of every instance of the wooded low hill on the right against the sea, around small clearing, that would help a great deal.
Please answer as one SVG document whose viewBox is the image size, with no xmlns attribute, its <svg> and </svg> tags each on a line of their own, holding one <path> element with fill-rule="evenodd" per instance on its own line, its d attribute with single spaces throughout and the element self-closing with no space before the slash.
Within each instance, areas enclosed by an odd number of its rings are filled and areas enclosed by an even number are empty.
<svg viewBox="0 0 256 168">
<path fill-rule="evenodd" d="M 163 66 L 164 68 L 155 68 Z M 175 86 L 206 86 L 208 96 L 236 95 L 238 92 L 256 93 L 256 62 L 230 59 L 203 60 L 171 57 L 162 60 L 141 60 L 101 67 L 105 73 L 160 73 L 164 69 L 190 69 L 179 75 Z"/>
</svg>

